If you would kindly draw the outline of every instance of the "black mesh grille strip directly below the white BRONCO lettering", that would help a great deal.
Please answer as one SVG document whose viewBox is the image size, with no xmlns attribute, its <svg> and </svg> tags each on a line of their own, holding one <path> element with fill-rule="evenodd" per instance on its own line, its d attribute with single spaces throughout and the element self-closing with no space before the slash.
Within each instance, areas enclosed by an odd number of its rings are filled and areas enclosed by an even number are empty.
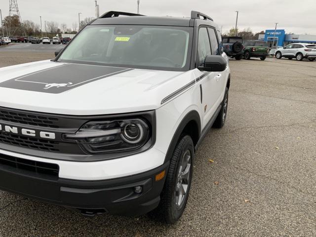
<svg viewBox="0 0 316 237">
<path fill-rule="evenodd" d="M 57 146 L 59 142 L 37 139 L 32 137 L 24 137 L 12 133 L 0 132 L 0 142 L 16 145 L 20 147 L 40 149 L 47 152 L 59 152 Z"/>
</svg>

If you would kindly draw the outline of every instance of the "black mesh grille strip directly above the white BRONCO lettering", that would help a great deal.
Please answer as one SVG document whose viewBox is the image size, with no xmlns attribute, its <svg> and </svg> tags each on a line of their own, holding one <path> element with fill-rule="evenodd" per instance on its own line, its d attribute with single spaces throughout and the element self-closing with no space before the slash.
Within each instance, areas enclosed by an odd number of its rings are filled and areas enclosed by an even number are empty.
<svg viewBox="0 0 316 237">
<path fill-rule="evenodd" d="M 29 124 L 33 126 L 59 128 L 58 118 L 27 114 L 25 112 L 12 112 L 0 109 L 0 120 L 17 122 L 21 124 Z"/>
</svg>

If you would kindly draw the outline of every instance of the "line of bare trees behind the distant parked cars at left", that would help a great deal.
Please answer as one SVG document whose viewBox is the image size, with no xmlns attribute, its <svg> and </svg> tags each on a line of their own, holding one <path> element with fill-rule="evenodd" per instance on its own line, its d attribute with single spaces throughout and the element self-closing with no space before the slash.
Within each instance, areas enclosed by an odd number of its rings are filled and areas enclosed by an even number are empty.
<svg viewBox="0 0 316 237">
<path fill-rule="evenodd" d="M 80 29 L 82 29 L 87 23 L 93 20 L 92 17 L 87 17 L 80 21 Z M 3 29 L 2 29 L 3 28 Z M 57 34 L 68 33 L 77 34 L 78 22 L 74 22 L 72 27 L 68 27 L 65 23 L 59 24 L 54 21 L 42 21 L 42 31 L 40 24 L 36 24 L 33 21 L 25 20 L 20 22 L 18 15 L 6 16 L 2 21 L 2 28 L 0 27 L 0 35 L 2 30 L 5 36 L 34 36 L 34 37 L 53 37 Z"/>
</svg>

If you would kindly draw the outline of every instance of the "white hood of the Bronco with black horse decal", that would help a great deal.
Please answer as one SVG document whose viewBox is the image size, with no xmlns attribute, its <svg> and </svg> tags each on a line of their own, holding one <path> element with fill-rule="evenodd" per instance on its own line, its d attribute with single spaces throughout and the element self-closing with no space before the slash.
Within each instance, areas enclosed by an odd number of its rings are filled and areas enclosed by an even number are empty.
<svg viewBox="0 0 316 237">
<path fill-rule="evenodd" d="M 0 107 L 65 115 L 155 110 L 193 74 L 48 60 L 21 64 L 0 69 Z"/>
</svg>

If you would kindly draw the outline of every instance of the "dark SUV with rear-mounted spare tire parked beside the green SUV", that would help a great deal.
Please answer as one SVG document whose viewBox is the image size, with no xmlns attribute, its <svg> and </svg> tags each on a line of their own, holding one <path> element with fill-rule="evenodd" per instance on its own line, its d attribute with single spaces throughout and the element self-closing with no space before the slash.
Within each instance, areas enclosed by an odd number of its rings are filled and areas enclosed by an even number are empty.
<svg viewBox="0 0 316 237">
<path fill-rule="evenodd" d="M 241 37 L 223 37 L 223 48 L 227 56 L 236 58 L 236 60 L 242 59 L 243 56 L 243 44 Z"/>
</svg>

